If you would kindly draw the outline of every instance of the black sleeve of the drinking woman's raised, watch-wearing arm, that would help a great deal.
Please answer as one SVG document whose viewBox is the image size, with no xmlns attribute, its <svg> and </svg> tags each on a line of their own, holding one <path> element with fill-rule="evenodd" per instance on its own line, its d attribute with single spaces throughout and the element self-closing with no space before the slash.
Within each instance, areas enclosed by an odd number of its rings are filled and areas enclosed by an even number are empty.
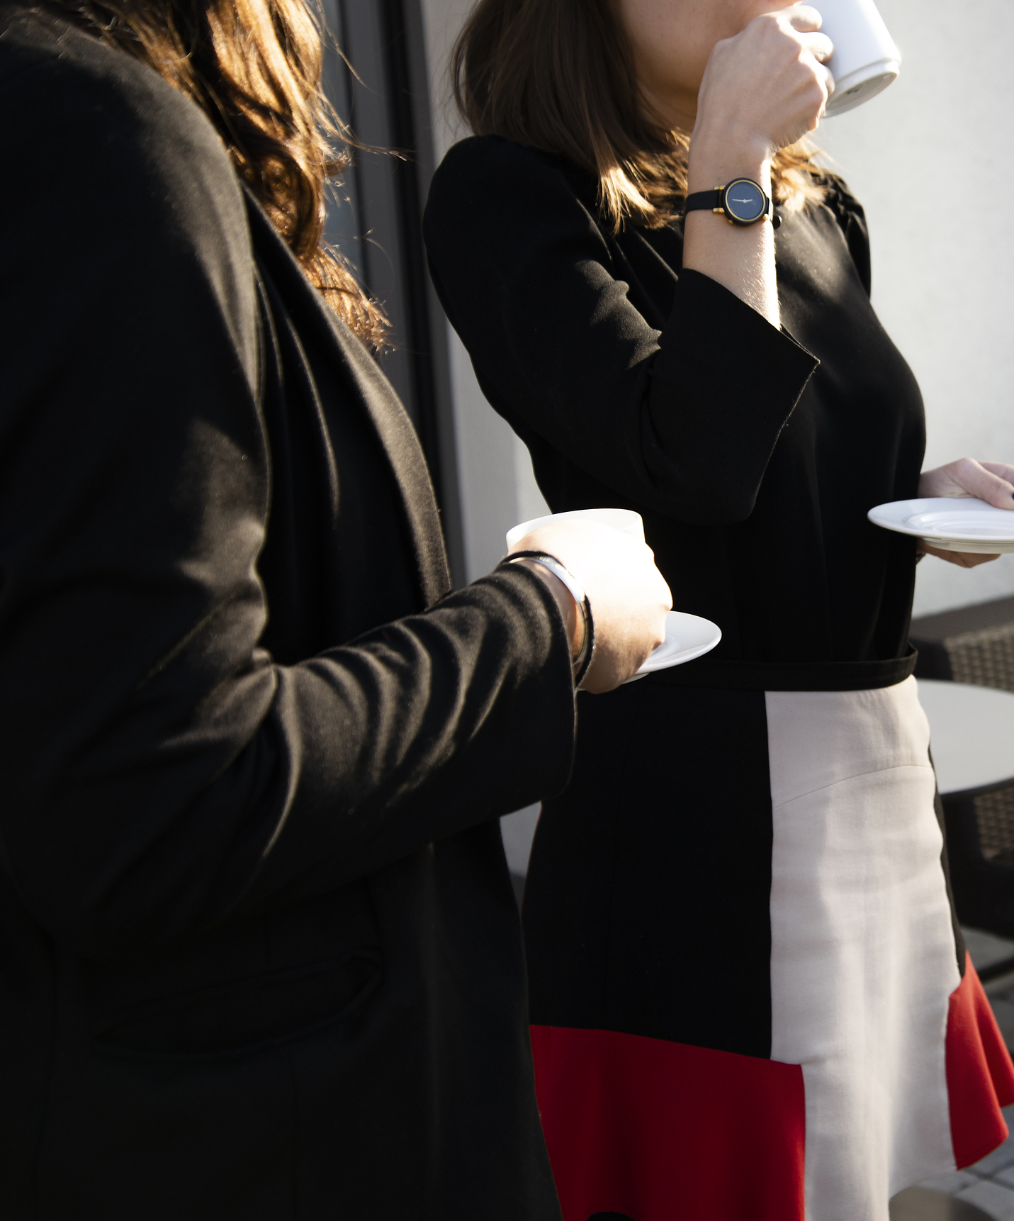
<svg viewBox="0 0 1014 1221">
<path fill-rule="evenodd" d="M 818 365 L 787 332 L 694 271 L 654 330 L 561 170 L 506 140 L 448 153 L 425 233 L 448 317 L 508 420 L 656 513 L 750 514 Z"/>
</svg>

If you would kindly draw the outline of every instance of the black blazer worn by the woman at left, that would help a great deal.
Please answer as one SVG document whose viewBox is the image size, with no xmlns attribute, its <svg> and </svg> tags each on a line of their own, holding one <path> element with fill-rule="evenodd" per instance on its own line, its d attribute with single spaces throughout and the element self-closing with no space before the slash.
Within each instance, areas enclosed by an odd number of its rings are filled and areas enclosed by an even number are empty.
<svg viewBox="0 0 1014 1221">
<path fill-rule="evenodd" d="M 555 1221 L 497 824 L 569 774 L 555 606 L 448 593 L 195 106 L 15 7 L 0 98 L 0 1217 Z"/>
</svg>

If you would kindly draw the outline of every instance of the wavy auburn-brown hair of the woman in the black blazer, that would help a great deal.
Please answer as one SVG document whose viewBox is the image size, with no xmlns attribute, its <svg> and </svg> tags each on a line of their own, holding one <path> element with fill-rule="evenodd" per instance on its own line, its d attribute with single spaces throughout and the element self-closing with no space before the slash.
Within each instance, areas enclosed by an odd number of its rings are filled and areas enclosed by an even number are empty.
<svg viewBox="0 0 1014 1221">
<path fill-rule="evenodd" d="M 323 241 L 328 179 L 355 140 L 321 88 L 323 22 L 304 0 L 44 0 L 143 60 L 211 120 L 327 303 L 369 346 L 387 320 Z"/>
</svg>

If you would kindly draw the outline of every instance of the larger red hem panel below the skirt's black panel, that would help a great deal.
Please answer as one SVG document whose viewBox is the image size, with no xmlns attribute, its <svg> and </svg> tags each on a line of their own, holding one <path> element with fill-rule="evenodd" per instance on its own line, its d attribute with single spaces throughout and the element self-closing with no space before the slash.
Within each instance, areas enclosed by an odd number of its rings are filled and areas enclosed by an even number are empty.
<svg viewBox="0 0 1014 1221">
<path fill-rule="evenodd" d="M 803 1221 L 798 1065 L 549 1026 L 532 1051 L 564 1221 Z"/>
</svg>

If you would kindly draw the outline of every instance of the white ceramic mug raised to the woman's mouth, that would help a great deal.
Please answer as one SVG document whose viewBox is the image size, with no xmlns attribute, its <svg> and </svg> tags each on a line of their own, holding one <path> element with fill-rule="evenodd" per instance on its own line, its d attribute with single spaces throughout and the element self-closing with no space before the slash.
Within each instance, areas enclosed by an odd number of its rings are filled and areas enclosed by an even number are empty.
<svg viewBox="0 0 1014 1221">
<path fill-rule="evenodd" d="M 813 0 L 821 33 L 835 44 L 827 67 L 835 92 L 825 114 L 843 115 L 875 98 L 898 76 L 902 56 L 874 0 Z"/>
</svg>

